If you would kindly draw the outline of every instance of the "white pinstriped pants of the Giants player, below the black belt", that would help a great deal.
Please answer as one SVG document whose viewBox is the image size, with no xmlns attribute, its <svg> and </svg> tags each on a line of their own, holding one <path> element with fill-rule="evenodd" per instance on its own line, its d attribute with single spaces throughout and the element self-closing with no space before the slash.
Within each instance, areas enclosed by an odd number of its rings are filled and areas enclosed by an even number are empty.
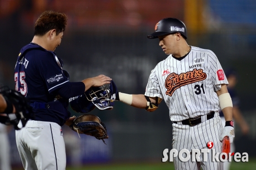
<svg viewBox="0 0 256 170">
<path fill-rule="evenodd" d="M 196 126 L 172 124 L 173 139 L 172 148 L 180 151 L 181 149 L 208 149 L 207 143 L 212 141 L 215 152 L 221 153 L 221 142 L 219 136 L 222 132 L 222 122 L 219 114 L 214 115 L 212 119 L 202 122 Z M 186 157 L 186 154 L 183 155 Z M 200 156 L 201 162 L 192 162 L 190 159 L 187 162 L 182 162 L 178 156 L 174 158 L 175 170 L 223 170 L 222 162 L 212 161 L 212 152 L 207 153 L 207 162 L 203 162 L 203 153 Z"/>
</svg>

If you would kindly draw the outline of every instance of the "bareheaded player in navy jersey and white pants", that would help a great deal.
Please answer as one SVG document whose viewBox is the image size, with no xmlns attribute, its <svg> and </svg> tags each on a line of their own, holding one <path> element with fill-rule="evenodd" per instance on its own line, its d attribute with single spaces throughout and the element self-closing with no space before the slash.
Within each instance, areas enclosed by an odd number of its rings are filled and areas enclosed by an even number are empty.
<svg viewBox="0 0 256 170">
<path fill-rule="evenodd" d="M 61 126 L 70 125 L 68 99 L 91 86 L 110 83 L 105 75 L 70 82 L 54 50 L 60 45 L 67 23 L 64 13 L 45 11 L 37 19 L 32 42 L 21 48 L 14 80 L 26 96 L 34 118 L 16 131 L 16 144 L 25 170 L 65 170 L 66 154 Z"/>
</svg>

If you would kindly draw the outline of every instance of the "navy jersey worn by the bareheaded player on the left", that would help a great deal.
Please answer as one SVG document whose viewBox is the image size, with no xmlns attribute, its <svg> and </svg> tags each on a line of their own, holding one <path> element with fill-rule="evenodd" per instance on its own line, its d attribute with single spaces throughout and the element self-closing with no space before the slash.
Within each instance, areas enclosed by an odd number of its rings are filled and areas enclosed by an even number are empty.
<svg viewBox="0 0 256 170">
<path fill-rule="evenodd" d="M 14 80 L 15 89 L 28 97 L 35 120 L 64 124 L 70 116 L 68 103 L 54 98 L 69 80 L 54 52 L 34 43 L 24 46 L 16 62 Z"/>
</svg>

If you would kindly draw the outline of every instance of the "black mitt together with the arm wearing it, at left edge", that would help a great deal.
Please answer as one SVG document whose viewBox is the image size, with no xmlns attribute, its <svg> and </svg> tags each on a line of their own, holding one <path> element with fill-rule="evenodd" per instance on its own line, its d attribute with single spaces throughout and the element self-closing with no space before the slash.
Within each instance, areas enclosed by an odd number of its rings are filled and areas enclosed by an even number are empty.
<svg viewBox="0 0 256 170">
<path fill-rule="evenodd" d="M 28 119 L 33 118 L 31 107 L 20 92 L 4 86 L 0 88 L 0 122 L 5 125 L 13 125 L 19 130 L 18 123 L 21 120 L 24 127 Z"/>
</svg>

